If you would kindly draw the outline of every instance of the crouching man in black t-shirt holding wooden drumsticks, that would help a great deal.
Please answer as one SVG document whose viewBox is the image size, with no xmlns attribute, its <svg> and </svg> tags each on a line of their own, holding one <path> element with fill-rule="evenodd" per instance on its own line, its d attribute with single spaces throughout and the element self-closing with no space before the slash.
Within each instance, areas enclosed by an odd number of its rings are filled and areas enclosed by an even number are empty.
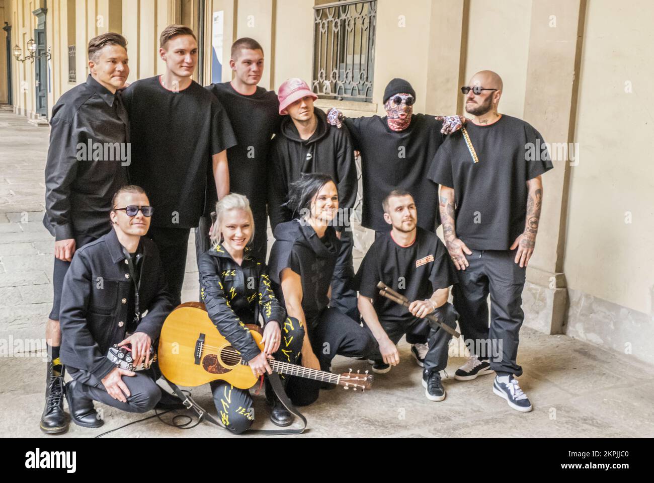
<svg viewBox="0 0 654 483">
<path fill-rule="evenodd" d="M 358 306 L 377 340 L 377 349 L 368 355 L 373 372 L 383 374 L 400 362 L 396 344 L 404 334 L 428 338 L 422 385 L 430 401 L 443 401 L 445 389 L 439 371 L 447 366 L 451 336 L 440 327 L 430 327 L 429 313 L 456 327 L 456 314 L 447 303 L 449 286 L 456 283 L 453 266 L 438 236 L 417 226 L 413 196 L 393 190 L 383 201 L 384 218 L 390 232 L 377 237 L 356 274 Z M 379 295 L 382 281 L 409 300 L 408 310 Z"/>
</svg>

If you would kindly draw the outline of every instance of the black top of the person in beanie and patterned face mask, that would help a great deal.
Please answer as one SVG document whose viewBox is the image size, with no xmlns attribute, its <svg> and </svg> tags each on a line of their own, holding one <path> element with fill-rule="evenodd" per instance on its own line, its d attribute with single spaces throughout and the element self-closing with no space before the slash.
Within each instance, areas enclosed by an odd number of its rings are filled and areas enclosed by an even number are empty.
<svg viewBox="0 0 654 483">
<path fill-rule="evenodd" d="M 379 116 L 345 118 L 354 149 L 361 152 L 363 213 L 361 224 L 384 232 L 382 200 L 394 189 L 404 188 L 413 195 L 418 210 L 418 226 L 436 230 L 438 187 L 427 179 L 436 150 L 443 142 L 443 123 L 424 114 L 414 114 L 409 128 L 395 132 L 387 118 Z"/>
</svg>

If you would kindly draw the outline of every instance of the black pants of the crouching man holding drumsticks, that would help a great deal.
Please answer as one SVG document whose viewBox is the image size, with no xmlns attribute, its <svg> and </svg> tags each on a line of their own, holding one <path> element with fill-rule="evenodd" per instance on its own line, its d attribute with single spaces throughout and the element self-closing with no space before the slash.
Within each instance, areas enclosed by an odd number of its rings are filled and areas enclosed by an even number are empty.
<svg viewBox="0 0 654 483">
<path fill-rule="evenodd" d="M 414 340 L 427 341 L 428 351 L 424 357 L 424 372 L 443 370 L 447 367 L 447 351 L 449 341 L 452 338 L 451 334 L 443 331 L 440 327 L 434 330 L 430 327 L 427 319 L 418 319 L 417 317 L 413 317 L 413 320 L 409 322 L 389 321 L 379 317 L 379 323 L 393 344 L 400 342 L 404 334 L 406 334 L 407 340 L 411 337 Z M 456 323 L 454 323 L 454 327 L 456 327 Z M 375 341 L 375 344 L 377 344 L 377 341 Z M 370 353 L 368 359 L 373 361 L 383 360 L 378 344 L 375 350 Z"/>
</svg>

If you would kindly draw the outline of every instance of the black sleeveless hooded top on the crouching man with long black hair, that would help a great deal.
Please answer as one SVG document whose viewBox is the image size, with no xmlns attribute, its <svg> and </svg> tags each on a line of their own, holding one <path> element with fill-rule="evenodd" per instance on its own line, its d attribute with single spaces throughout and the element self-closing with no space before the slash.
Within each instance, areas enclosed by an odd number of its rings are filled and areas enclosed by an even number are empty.
<svg viewBox="0 0 654 483">
<path fill-rule="evenodd" d="M 281 272 L 290 268 L 300 275 L 304 317 L 310 328 L 315 327 L 320 312 L 329 304 L 327 293 L 341 249 L 336 230 L 328 226 L 321 239 L 310 224 L 294 219 L 277 225 L 274 234 L 275 243 L 268 260 L 273 289 L 285 306 Z"/>
</svg>

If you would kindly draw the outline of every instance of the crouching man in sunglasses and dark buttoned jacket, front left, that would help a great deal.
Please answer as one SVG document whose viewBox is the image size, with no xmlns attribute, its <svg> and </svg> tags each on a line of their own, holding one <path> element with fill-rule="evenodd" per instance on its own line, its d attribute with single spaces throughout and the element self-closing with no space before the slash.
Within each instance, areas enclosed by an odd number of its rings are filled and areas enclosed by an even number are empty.
<svg viewBox="0 0 654 483">
<path fill-rule="evenodd" d="M 150 367 L 149 351 L 173 307 L 156 245 L 144 237 L 151 216 L 143 188 L 120 188 L 112 200 L 113 229 L 75 252 L 63 281 L 61 361 L 73 377 L 66 398 L 80 426 L 103 424 L 93 401 L 146 412 L 162 399 L 155 383 L 160 372 Z M 114 344 L 131 349 L 134 367 L 146 369 L 114 365 L 107 359 Z M 164 397 L 173 403 L 173 396 Z"/>
</svg>

